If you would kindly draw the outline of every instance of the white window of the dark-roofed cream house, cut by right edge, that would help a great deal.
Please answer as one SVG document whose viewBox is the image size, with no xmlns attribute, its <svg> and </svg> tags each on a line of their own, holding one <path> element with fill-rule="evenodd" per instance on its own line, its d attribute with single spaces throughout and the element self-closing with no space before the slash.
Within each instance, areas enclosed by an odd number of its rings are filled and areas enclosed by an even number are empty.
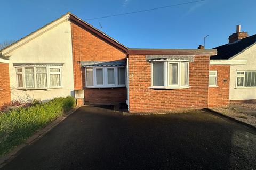
<svg viewBox="0 0 256 170">
<path fill-rule="evenodd" d="M 237 71 L 236 87 L 253 88 L 256 87 L 256 71 Z"/>
</svg>

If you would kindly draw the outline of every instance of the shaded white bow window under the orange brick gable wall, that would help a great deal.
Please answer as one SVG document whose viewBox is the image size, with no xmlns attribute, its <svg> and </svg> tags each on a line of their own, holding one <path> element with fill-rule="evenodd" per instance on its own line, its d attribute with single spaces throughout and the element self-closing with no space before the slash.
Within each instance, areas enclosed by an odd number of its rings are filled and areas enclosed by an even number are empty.
<svg viewBox="0 0 256 170">
<path fill-rule="evenodd" d="M 114 88 L 125 87 L 125 67 L 86 67 L 85 87 L 87 88 Z"/>
</svg>

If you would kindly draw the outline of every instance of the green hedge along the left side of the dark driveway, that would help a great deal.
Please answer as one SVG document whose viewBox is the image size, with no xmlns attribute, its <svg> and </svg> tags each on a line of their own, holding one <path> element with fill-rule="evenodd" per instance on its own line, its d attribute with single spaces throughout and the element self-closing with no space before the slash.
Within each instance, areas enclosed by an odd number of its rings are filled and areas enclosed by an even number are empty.
<svg viewBox="0 0 256 170">
<path fill-rule="evenodd" d="M 74 97 L 55 98 L 28 108 L 19 108 L 0 115 L 0 155 L 24 142 L 75 105 Z"/>
</svg>

